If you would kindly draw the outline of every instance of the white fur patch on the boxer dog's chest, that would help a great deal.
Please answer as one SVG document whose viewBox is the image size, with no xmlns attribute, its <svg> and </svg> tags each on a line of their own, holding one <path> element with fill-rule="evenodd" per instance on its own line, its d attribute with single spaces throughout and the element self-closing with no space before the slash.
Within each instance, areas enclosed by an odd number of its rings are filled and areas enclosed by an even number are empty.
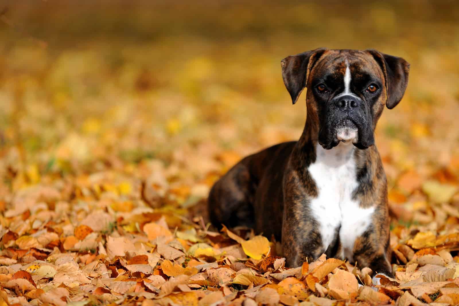
<svg viewBox="0 0 459 306">
<path fill-rule="evenodd" d="M 368 229 L 374 212 L 374 208 L 360 208 L 353 199 L 358 186 L 354 148 L 348 142 L 330 150 L 318 145 L 316 162 L 308 167 L 318 190 L 318 197 L 310 205 L 319 223 L 323 249 L 334 243 L 339 229 L 341 253 L 337 256 L 351 262 L 355 239 Z"/>
</svg>

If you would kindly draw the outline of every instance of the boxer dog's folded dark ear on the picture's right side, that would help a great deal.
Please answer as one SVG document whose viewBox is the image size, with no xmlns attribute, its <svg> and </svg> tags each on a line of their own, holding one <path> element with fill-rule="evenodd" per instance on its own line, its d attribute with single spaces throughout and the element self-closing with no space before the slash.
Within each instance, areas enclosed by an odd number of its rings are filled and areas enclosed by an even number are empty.
<svg viewBox="0 0 459 306">
<path fill-rule="evenodd" d="M 409 63 L 401 57 L 367 50 L 381 66 L 386 78 L 386 106 L 393 109 L 403 98 L 408 85 Z"/>
</svg>

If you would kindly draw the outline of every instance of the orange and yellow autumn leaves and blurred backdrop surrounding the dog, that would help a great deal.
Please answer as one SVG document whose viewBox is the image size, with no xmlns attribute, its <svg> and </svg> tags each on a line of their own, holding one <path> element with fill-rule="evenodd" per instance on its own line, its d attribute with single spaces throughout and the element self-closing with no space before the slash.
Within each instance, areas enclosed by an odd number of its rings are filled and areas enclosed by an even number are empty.
<svg viewBox="0 0 459 306">
<path fill-rule="evenodd" d="M 457 2 L 11 1 L 0 15 L 2 302 L 459 302 Z M 207 229 L 212 183 L 300 136 L 305 93 L 291 105 L 280 60 L 317 47 L 411 64 L 376 129 L 399 272 L 377 294 L 348 263 L 286 269 L 259 233 Z"/>
</svg>

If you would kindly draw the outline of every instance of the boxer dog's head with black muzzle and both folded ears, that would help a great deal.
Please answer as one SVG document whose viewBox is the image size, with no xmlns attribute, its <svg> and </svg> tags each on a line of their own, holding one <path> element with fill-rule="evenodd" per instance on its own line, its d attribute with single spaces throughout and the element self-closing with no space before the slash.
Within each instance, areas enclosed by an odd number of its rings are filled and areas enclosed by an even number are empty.
<svg viewBox="0 0 459 306">
<path fill-rule="evenodd" d="M 293 104 L 308 88 L 308 117 L 318 124 L 319 143 L 326 149 L 341 141 L 360 149 L 372 146 L 384 105 L 394 108 L 408 84 L 409 63 L 376 50 L 315 49 L 281 64 Z"/>
</svg>

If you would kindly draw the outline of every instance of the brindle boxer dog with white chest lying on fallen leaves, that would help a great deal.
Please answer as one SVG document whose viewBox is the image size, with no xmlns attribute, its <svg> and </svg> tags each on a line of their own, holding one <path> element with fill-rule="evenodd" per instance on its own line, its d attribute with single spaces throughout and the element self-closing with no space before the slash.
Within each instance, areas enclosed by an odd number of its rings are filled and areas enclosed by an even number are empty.
<svg viewBox="0 0 459 306">
<path fill-rule="evenodd" d="M 374 131 L 384 106 L 402 99 L 409 63 L 376 50 L 315 49 L 281 66 L 293 104 L 308 88 L 303 133 L 247 156 L 220 178 L 209 194 L 212 223 L 274 235 L 290 267 L 325 253 L 393 277 Z"/>
</svg>

